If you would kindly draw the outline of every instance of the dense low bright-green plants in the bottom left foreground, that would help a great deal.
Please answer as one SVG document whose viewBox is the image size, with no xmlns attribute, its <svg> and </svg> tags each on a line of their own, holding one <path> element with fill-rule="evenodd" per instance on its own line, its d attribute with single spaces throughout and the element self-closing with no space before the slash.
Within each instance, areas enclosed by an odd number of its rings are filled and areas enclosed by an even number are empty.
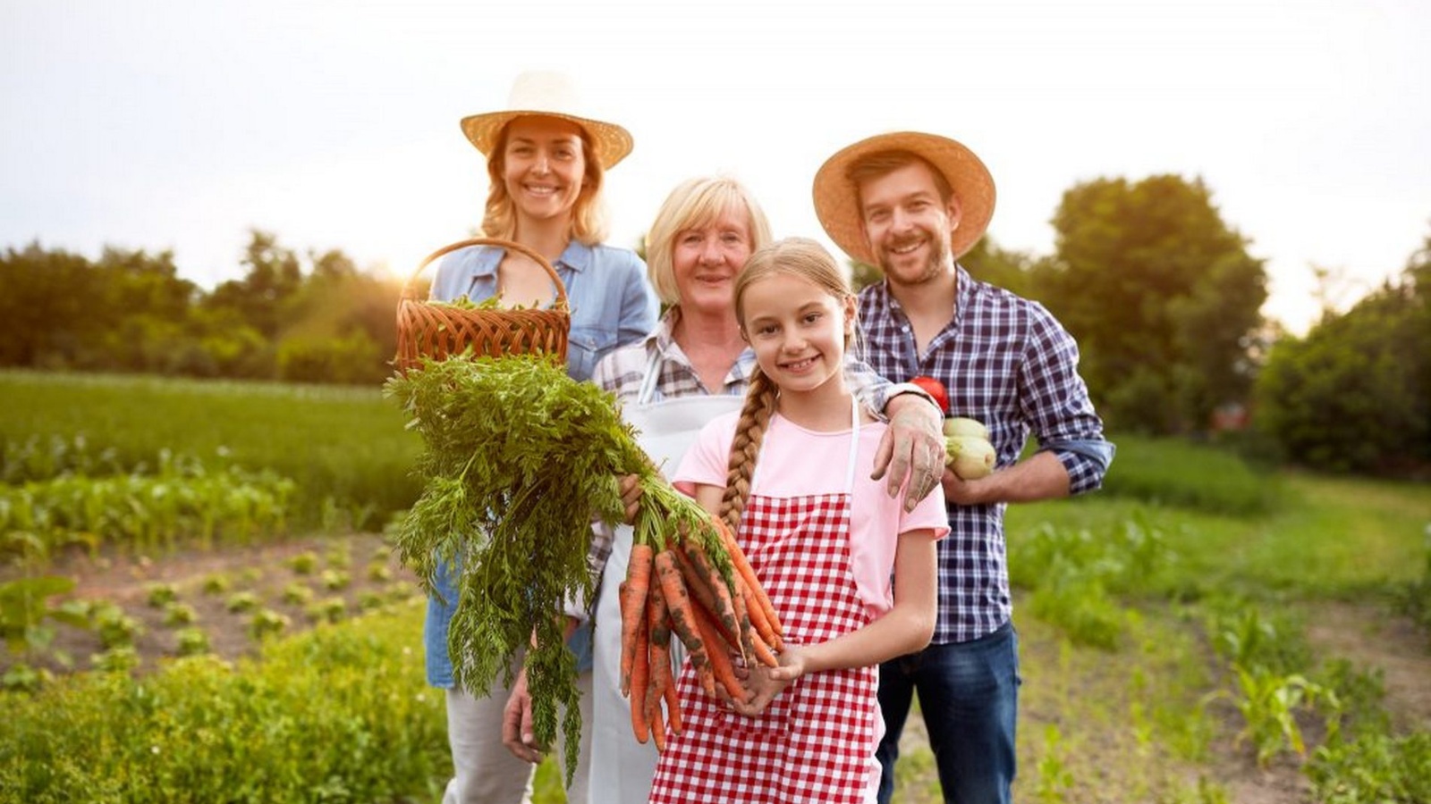
<svg viewBox="0 0 1431 804">
<path fill-rule="evenodd" d="M 0 804 L 418 801 L 451 771 L 406 605 L 269 642 L 0 694 Z"/>
</svg>

